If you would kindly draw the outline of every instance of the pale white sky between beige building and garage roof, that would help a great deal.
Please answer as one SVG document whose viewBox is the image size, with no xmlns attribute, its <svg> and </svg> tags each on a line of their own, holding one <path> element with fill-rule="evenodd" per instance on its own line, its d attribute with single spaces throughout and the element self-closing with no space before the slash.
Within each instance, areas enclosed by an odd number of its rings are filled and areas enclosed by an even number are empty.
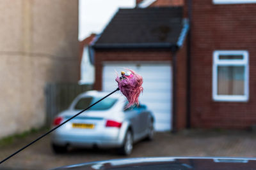
<svg viewBox="0 0 256 170">
<path fill-rule="evenodd" d="M 79 0 L 78 39 L 99 34 L 118 8 L 134 8 L 136 0 Z"/>
</svg>

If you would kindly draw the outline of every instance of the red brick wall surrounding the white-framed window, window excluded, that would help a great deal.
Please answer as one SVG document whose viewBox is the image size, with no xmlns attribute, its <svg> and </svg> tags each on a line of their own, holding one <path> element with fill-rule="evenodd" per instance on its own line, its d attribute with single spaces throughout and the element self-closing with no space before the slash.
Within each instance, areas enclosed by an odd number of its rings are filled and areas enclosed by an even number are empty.
<svg viewBox="0 0 256 170">
<path fill-rule="evenodd" d="M 256 4 L 213 4 L 193 0 L 191 25 L 191 125 L 244 129 L 256 124 Z M 212 52 L 248 50 L 250 99 L 212 100 Z"/>
</svg>

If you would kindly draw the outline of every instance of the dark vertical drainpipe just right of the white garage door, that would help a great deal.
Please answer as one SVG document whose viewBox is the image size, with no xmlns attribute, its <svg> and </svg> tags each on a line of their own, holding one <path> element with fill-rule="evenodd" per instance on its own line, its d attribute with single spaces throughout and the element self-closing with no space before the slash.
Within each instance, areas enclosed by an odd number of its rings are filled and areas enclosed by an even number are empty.
<svg viewBox="0 0 256 170">
<path fill-rule="evenodd" d="M 171 47 L 172 53 L 172 132 L 177 132 L 177 50 L 178 46 Z"/>
</svg>

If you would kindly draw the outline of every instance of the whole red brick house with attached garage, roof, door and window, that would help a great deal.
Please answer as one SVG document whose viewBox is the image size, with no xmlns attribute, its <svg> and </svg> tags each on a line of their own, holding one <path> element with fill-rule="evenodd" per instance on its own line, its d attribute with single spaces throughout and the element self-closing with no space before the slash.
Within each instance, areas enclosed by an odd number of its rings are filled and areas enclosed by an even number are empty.
<svg viewBox="0 0 256 170">
<path fill-rule="evenodd" d="M 255 125 L 256 80 L 252 75 L 256 61 L 252 56 L 256 53 L 256 1 L 166 2 L 152 1 L 141 7 L 143 1 L 137 1 L 140 8 L 116 13 L 93 46 L 95 89 L 115 89 L 113 69 L 132 67 L 144 74 L 146 87 L 141 101 L 156 113 L 159 131 L 186 127 L 248 129 Z M 154 32 L 157 29 L 151 25 L 160 27 L 156 20 L 170 22 L 166 18 L 179 22 Z M 188 36 L 184 18 L 189 18 Z M 180 37 L 182 43 L 178 45 Z"/>
</svg>

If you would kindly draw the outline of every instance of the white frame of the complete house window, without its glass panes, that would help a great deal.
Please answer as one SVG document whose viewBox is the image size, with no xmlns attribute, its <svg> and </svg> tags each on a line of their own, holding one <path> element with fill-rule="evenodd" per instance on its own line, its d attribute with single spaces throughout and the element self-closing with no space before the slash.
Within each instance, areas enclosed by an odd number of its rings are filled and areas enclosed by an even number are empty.
<svg viewBox="0 0 256 170">
<path fill-rule="evenodd" d="M 243 55 L 243 59 L 219 59 L 220 55 Z M 213 52 L 212 97 L 214 101 L 241 101 L 249 99 L 249 53 L 246 50 L 216 50 Z M 244 95 L 218 94 L 218 66 L 244 66 Z"/>
</svg>

